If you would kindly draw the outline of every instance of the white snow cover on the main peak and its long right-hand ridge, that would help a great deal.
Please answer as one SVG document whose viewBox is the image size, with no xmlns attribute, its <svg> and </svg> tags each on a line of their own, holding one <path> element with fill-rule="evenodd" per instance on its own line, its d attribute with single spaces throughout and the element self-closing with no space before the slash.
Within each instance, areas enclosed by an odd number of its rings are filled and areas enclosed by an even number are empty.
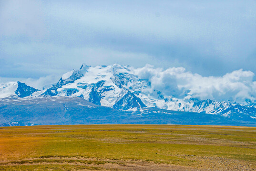
<svg viewBox="0 0 256 171">
<path fill-rule="evenodd" d="M 68 90 L 74 89 L 77 91 L 71 96 L 81 96 L 95 104 L 109 107 L 116 106 L 116 103 L 123 98 L 126 92 L 130 91 L 148 107 L 207 114 L 237 113 L 236 109 L 232 109 L 233 111 L 230 112 L 227 111 L 229 108 L 234 108 L 232 104 L 227 102 L 198 100 L 192 98 L 191 95 L 186 95 L 183 99 L 176 98 L 173 95 L 162 95 L 160 91 L 151 87 L 149 80 L 137 76 L 133 67 L 118 64 L 89 66 L 82 77 L 59 87 L 57 92 L 58 95 L 67 95 Z M 123 107 L 123 104 L 119 106 L 122 106 L 121 108 L 125 110 L 130 109 Z M 252 108 L 252 106 L 247 107 Z M 254 108 L 252 110 L 254 111 Z"/>
</svg>

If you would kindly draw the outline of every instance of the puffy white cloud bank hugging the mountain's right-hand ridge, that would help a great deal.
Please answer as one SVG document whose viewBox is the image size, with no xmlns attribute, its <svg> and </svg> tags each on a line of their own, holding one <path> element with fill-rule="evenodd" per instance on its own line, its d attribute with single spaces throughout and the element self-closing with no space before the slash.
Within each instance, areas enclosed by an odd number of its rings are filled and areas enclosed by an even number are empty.
<svg viewBox="0 0 256 171">
<path fill-rule="evenodd" d="M 164 70 L 146 65 L 136 69 L 136 74 L 150 81 L 154 90 L 164 95 L 184 97 L 191 95 L 201 100 L 212 99 L 244 103 L 246 99 L 256 100 L 255 74 L 239 69 L 224 76 L 201 76 L 188 72 L 183 67 Z"/>
</svg>

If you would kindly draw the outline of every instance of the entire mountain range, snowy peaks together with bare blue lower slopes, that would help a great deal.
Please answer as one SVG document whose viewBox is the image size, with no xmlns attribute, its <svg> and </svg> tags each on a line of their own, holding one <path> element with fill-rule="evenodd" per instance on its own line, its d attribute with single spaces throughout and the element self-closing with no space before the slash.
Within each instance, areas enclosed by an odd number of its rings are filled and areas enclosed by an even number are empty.
<svg viewBox="0 0 256 171">
<path fill-rule="evenodd" d="M 51 101 L 51 105 L 48 101 Z M 41 121 L 44 108 L 40 105 L 48 106 L 51 111 L 47 116 L 51 118 L 48 119 L 49 122 L 47 119 Z M 63 108 L 65 105 L 71 105 L 69 109 L 72 108 L 72 112 Z M 91 106 L 90 112 L 88 106 Z M 57 110 L 58 107 L 60 110 Z M 96 117 L 97 113 L 102 114 L 102 111 L 105 111 L 104 117 L 108 115 L 109 119 L 95 120 L 92 117 Z M 35 113 L 38 115 L 34 116 Z M 0 125 L 16 125 L 16 123 L 18 125 L 82 123 L 256 125 L 255 103 L 237 104 L 211 99 L 200 100 L 191 95 L 185 95 L 183 98 L 174 94 L 166 95 L 161 90 L 154 89 L 149 80 L 142 79 L 136 74 L 132 66 L 118 64 L 109 66 L 82 64 L 80 69 L 63 74 L 56 84 L 43 90 L 19 81 L 0 85 L 0 114 L 2 118 Z M 17 114 L 21 114 L 22 117 L 14 119 Z M 58 119 L 55 118 L 54 121 L 54 117 L 50 117 L 52 114 L 59 114 L 65 119 L 57 122 Z M 72 117 L 65 117 L 65 114 L 70 114 Z M 175 114 L 179 114 L 176 120 Z M 87 119 L 78 119 L 82 116 L 87 116 Z M 24 119 L 27 121 L 24 122 Z"/>
</svg>

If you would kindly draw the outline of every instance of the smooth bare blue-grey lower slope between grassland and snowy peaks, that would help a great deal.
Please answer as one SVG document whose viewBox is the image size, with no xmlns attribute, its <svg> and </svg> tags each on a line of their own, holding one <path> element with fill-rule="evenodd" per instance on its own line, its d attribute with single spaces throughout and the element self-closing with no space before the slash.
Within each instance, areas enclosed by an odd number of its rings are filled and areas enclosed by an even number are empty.
<svg viewBox="0 0 256 171">
<path fill-rule="evenodd" d="M 252 121 L 158 108 L 116 110 L 80 97 L 52 96 L 0 99 L 0 126 L 50 124 L 197 124 L 256 126 Z"/>
</svg>

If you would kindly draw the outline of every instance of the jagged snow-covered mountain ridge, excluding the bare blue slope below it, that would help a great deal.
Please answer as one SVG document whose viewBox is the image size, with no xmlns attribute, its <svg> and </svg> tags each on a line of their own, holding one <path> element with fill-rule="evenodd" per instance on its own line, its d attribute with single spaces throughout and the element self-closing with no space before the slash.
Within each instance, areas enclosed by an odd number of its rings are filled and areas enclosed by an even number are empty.
<svg viewBox="0 0 256 171">
<path fill-rule="evenodd" d="M 197 112 L 222 115 L 232 119 L 256 122 L 256 104 L 231 104 L 213 100 L 199 100 L 186 95 L 177 98 L 166 95 L 151 86 L 149 80 L 142 79 L 132 66 L 109 65 L 87 66 L 72 70 L 61 76 L 57 84 L 46 90 L 37 90 L 18 82 L 0 86 L 0 97 L 9 95 L 25 96 L 72 96 L 82 97 L 97 105 L 113 107 L 123 111 L 138 108 Z"/>
</svg>

